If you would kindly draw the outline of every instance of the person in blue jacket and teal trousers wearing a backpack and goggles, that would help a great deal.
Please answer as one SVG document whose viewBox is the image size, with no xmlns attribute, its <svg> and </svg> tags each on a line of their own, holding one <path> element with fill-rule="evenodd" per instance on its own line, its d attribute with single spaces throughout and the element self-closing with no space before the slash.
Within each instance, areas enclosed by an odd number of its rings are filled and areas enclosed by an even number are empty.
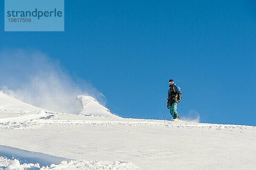
<svg viewBox="0 0 256 170">
<path fill-rule="evenodd" d="M 180 87 L 177 86 L 173 79 L 169 79 L 169 90 L 168 90 L 168 98 L 167 98 L 167 108 L 170 109 L 170 113 L 174 120 L 180 120 L 179 113 L 177 112 L 177 105 L 180 102 L 181 90 Z"/>
</svg>

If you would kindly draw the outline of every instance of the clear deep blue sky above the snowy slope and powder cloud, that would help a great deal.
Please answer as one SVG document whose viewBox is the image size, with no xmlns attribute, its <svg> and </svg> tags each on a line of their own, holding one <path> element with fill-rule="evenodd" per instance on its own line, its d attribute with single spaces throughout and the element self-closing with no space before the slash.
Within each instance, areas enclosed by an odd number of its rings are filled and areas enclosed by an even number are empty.
<svg viewBox="0 0 256 170">
<path fill-rule="evenodd" d="M 123 117 L 171 119 L 168 80 L 183 91 L 180 116 L 256 125 L 256 1 L 65 0 L 64 32 L 4 32 L 0 50 L 42 51 L 92 83 Z"/>
</svg>

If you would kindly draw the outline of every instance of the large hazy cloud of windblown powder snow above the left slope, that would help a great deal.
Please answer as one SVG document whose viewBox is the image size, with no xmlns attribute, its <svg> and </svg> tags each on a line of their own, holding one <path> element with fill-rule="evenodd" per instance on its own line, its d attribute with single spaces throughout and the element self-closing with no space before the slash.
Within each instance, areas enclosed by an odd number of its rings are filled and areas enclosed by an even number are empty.
<svg viewBox="0 0 256 170">
<path fill-rule="evenodd" d="M 73 79 L 58 60 L 41 51 L 0 51 L 0 89 L 23 102 L 40 108 L 71 113 L 67 101 L 77 95 L 93 96 L 105 105 L 105 96 L 83 79 Z M 79 82 L 79 83 L 78 83 Z"/>
</svg>

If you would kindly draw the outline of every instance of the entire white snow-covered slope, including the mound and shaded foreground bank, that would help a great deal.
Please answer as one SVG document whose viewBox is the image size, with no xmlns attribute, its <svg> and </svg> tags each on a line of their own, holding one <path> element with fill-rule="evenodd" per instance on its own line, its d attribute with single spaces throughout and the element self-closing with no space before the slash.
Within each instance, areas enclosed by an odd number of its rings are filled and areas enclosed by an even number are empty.
<svg viewBox="0 0 256 170">
<path fill-rule="evenodd" d="M 256 167 L 254 126 L 125 119 L 90 96 L 76 101 L 81 114 L 57 113 L 0 92 L 0 170 Z"/>
</svg>

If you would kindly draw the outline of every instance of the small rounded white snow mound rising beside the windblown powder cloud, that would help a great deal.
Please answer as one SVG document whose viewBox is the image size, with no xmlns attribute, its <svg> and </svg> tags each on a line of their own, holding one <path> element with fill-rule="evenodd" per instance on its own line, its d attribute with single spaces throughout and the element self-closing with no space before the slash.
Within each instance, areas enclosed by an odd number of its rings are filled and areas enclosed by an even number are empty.
<svg viewBox="0 0 256 170">
<path fill-rule="evenodd" d="M 108 108 L 99 104 L 99 102 L 91 96 L 79 95 L 76 97 L 76 101 L 81 105 L 80 114 L 117 117 L 113 115 Z"/>
</svg>

